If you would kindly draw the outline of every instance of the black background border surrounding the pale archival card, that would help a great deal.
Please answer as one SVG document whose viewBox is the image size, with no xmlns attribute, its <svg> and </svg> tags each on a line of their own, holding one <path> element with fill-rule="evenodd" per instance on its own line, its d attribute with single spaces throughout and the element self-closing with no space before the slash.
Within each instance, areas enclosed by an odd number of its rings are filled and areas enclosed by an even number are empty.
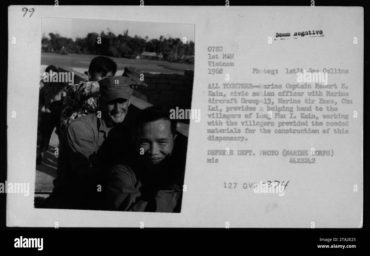
<svg viewBox="0 0 370 256">
<path fill-rule="evenodd" d="M 7 177 L 7 122 L 6 117 L 9 115 L 7 112 L 7 62 L 8 62 L 8 30 L 5 24 L 8 24 L 8 13 L 7 8 L 9 5 L 54 5 L 54 0 L 16 0 L 16 1 L 2 1 L 0 6 L 0 18 L 1 34 L 3 38 L 3 44 L 0 44 L 0 67 L 3 77 L 3 87 L 0 93 L 0 182 L 6 180 Z M 107 1 L 80 1 L 80 0 L 60 0 L 60 5 L 107 5 Z M 109 5 L 139 5 L 140 0 L 125 0 L 125 1 L 109 1 Z M 310 6 L 310 0 L 298 1 L 298 0 L 287 0 L 287 1 L 237 1 L 230 0 L 230 6 Z M 188 1 L 163 1 L 163 0 L 144 0 L 145 6 L 224 6 L 224 0 L 188 0 Z M 316 0 L 315 6 L 362 6 L 364 7 L 364 113 L 369 113 L 369 1 L 327 1 L 327 0 Z M 299 15 L 299 14 L 295 14 Z M 157 249 L 160 249 L 159 253 L 162 252 L 162 244 L 168 245 L 165 249 L 168 252 L 174 253 L 181 250 L 182 247 L 186 247 L 187 243 L 185 240 L 191 240 L 191 247 L 205 247 L 205 248 L 217 248 L 218 241 L 222 241 L 219 246 L 230 249 L 235 253 L 235 245 L 242 246 L 242 254 L 247 253 L 286 253 L 289 249 L 303 249 L 301 252 L 305 252 L 307 249 L 317 249 L 318 244 L 332 244 L 326 242 L 319 242 L 319 238 L 356 238 L 356 242 L 337 242 L 336 244 L 353 244 L 356 245 L 356 249 L 367 249 L 369 248 L 367 236 L 369 235 L 369 152 L 367 147 L 367 141 L 369 141 L 369 134 L 367 129 L 369 127 L 369 120 L 364 115 L 364 138 L 363 138 L 363 166 L 364 166 L 364 209 L 363 209 L 363 228 L 361 229 L 256 229 L 256 228 L 9 228 L 6 227 L 6 194 L 0 194 L 0 231 L 6 231 L 3 233 L 0 239 L 1 249 L 7 250 L 23 250 L 26 251 L 37 251 L 36 248 L 14 248 L 14 239 L 23 236 L 23 238 L 44 238 L 44 249 L 43 251 L 48 252 L 61 252 L 63 250 L 71 249 L 82 249 L 88 250 L 89 248 L 95 249 L 121 249 L 119 252 L 124 253 L 124 248 L 137 248 L 134 244 L 126 244 L 127 242 L 139 242 L 141 245 L 147 244 L 149 241 L 157 242 Z M 168 234 L 154 235 L 150 231 L 180 231 L 183 233 L 182 238 L 172 236 Z M 73 231 L 73 232 L 71 232 Z M 123 232 L 122 232 L 123 231 Z M 149 232 L 145 232 L 149 231 Z M 201 236 L 187 235 L 189 231 L 195 231 L 195 234 Z M 203 232 L 199 232 L 203 231 Z M 223 231 L 221 235 L 217 232 L 216 239 L 212 238 L 209 241 L 209 237 L 205 237 L 204 232 L 209 231 Z M 226 232 L 242 231 L 238 234 L 238 238 L 233 240 L 232 236 L 227 235 Z M 145 232 L 145 234 L 144 234 Z M 212 232 L 214 233 L 214 232 Z M 235 234 L 235 233 L 234 233 Z M 221 236 L 218 236 L 221 235 Z M 186 238 L 187 237 L 187 238 Z M 221 240 L 220 240 L 221 239 Z M 130 241 L 129 241 L 130 240 Z M 125 241 L 125 243 L 122 243 Z M 108 242 L 108 243 L 107 243 Z M 170 242 L 170 243 L 169 243 Z M 210 243 L 210 244 L 209 244 Z M 172 251 L 171 245 L 174 245 L 177 249 Z M 248 245 L 248 246 L 247 246 Z M 152 247 L 150 247 L 152 248 Z M 130 252 L 131 252 L 130 249 Z M 140 251 L 143 248 L 140 248 Z M 155 248 L 154 253 L 156 252 Z M 171 251 L 170 251 L 171 250 Z M 327 251 L 329 249 L 318 249 Z M 340 249 L 342 250 L 342 249 Z M 344 249 L 343 252 L 353 252 L 353 249 Z M 336 250 L 334 249 L 333 252 Z M 40 251 L 37 251 L 40 252 Z M 238 253 L 239 254 L 239 253 Z"/>
</svg>

